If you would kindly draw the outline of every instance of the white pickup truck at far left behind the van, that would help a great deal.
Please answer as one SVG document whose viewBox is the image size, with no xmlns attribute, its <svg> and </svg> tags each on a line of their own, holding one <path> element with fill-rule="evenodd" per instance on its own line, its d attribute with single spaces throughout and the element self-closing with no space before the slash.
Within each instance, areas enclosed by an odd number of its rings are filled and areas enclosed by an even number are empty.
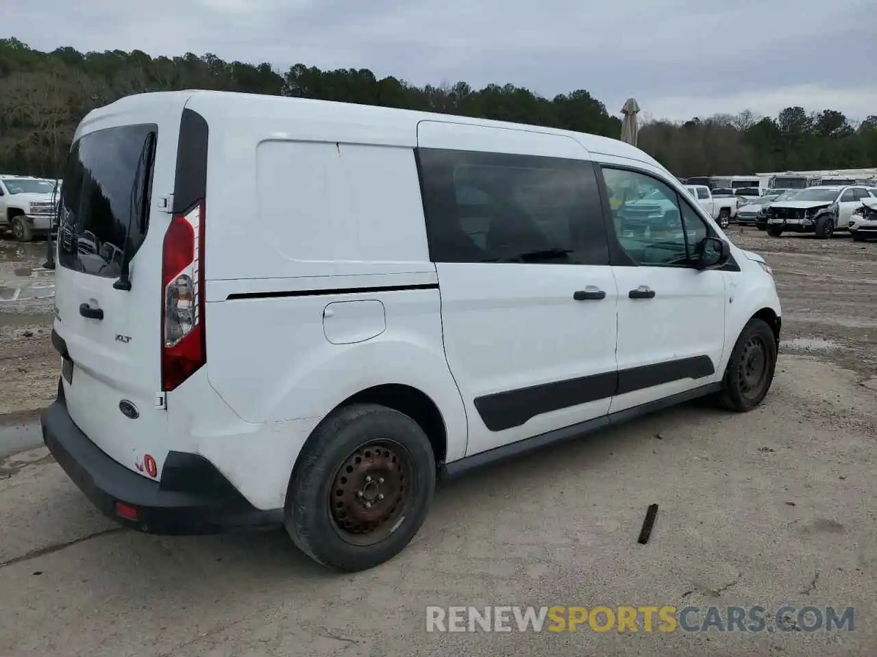
<svg viewBox="0 0 877 657">
<path fill-rule="evenodd" d="M 0 231 L 11 230 L 19 242 L 30 242 L 53 227 L 54 180 L 0 174 Z"/>
</svg>

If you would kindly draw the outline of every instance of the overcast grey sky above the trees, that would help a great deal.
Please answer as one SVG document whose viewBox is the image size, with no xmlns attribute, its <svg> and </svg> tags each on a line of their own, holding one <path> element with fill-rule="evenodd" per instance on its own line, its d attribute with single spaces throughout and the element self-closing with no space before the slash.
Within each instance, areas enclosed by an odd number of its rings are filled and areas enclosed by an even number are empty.
<svg viewBox="0 0 877 657">
<path fill-rule="evenodd" d="M 39 50 L 187 51 L 422 85 L 585 88 L 655 118 L 877 114 L 877 0 L 0 0 Z"/>
</svg>

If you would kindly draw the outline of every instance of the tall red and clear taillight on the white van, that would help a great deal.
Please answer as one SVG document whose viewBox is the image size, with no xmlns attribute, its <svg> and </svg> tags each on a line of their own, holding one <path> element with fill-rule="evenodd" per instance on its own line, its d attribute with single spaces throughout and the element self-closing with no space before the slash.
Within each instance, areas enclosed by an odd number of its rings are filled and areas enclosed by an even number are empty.
<svg viewBox="0 0 877 657">
<path fill-rule="evenodd" d="M 161 251 L 161 386 L 174 390 L 207 362 L 204 204 L 174 215 Z"/>
</svg>

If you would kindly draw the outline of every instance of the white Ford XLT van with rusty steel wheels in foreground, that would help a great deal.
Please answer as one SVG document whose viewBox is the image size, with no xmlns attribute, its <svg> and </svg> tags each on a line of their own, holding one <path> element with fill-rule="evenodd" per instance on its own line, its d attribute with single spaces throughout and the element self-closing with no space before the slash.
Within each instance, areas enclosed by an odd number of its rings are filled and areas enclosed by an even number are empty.
<svg viewBox="0 0 877 657">
<path fill-rule="evenodd" d="M 79 125 L 62 203 L 44 439 L 143 532 L 285 524 L 366 569 L 437 477 L 774 376 L 770 268 L 615 139 L 133 95 Z"/>
</svg>

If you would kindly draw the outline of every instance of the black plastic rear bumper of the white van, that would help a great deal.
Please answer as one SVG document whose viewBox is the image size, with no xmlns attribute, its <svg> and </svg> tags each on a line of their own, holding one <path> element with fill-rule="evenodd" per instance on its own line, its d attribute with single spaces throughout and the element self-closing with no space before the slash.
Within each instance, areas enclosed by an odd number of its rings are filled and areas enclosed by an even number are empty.
<svg viewBox="0 0 877 657">
<path fill-rule="evenodd" d="M 97 448 L 70 418 L 59 396 L 40 416 L 43 441 L 61 468 L 108 518 L 139 532 L 222 533 L 282 524 L 282 509 L 256 509 L 203 456 L 170 452 L 161 481 L 141 477 Z M 117 503 L 137 519 L 118 515 Z"/>
</svg>

